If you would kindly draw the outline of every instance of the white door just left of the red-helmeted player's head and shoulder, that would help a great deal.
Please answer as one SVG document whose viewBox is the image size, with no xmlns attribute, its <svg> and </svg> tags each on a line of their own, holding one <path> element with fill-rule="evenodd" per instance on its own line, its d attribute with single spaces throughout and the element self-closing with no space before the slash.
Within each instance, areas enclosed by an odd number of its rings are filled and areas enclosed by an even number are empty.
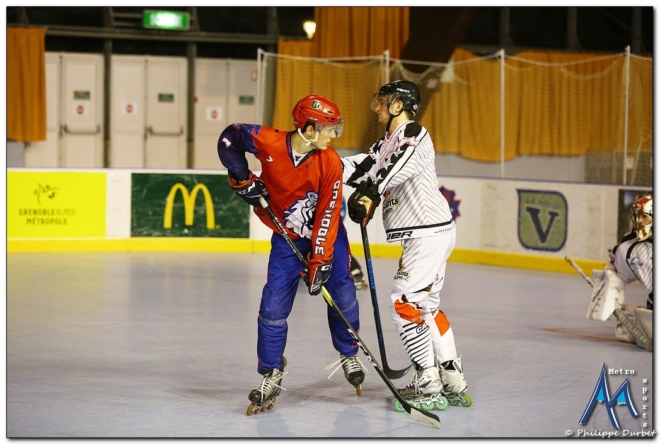
<svg viewBox="0 0 660 445">
<path fill-rule="evenodd" d="M 195 150 L 193 168 L 223 168 L 217 154 L 218 136 L 227 117 L 227 61 L 195 61 Z"/>
</svg>

